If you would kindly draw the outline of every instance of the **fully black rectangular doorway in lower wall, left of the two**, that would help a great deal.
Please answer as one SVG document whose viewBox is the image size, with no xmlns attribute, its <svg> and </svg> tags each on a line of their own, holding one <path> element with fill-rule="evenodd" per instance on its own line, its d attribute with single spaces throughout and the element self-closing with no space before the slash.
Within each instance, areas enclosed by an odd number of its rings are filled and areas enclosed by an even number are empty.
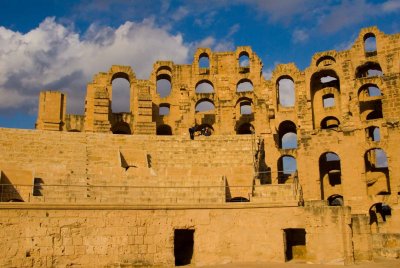
<svg viewBox="0 0 400 268">
<path fill-rule="evenodd" d="M 176 229 L 174 232 L 174 255 L 175 265 L 188 265 L 193 257 L 193 234 L 194 230 Z"/>
</svg>

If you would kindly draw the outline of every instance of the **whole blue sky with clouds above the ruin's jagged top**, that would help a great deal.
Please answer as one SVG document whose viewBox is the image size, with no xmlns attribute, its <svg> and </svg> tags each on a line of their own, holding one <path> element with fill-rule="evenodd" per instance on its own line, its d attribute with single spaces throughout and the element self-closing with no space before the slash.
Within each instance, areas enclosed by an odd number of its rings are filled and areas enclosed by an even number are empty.
<svg viewBox="0 0 400 268">
<path fill-rule="evenodd" d="M 0 127 L 33 128 L 41 90 L 83 113 L 86 84 L 112 64 L 147 79 L 156 60 L 191 63 L 197 47 L 249 45 L 264 63 L 306 68 L 350 47 L 362 27 L 400 32 L 400 0 L 14 0 L 0 9 Z"/>
</svg>

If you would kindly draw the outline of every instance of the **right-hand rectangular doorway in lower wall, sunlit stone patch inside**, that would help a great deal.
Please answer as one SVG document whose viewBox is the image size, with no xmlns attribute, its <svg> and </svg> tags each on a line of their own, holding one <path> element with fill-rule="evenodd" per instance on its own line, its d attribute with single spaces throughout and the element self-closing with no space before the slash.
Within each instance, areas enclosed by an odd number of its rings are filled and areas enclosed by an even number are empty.
<svg viewBox="0 0 400 268">
<path fill-rule="evenodd" d="M 285 261 L 304 260 L 306 251 L 306 231 L 301 228 L 285 229 Z"/>
</svg>

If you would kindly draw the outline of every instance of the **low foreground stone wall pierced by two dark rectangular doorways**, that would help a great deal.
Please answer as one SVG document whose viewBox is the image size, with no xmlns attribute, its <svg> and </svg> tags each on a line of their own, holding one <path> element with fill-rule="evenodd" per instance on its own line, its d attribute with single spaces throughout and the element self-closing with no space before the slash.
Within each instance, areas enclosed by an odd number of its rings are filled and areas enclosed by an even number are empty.
<svg viewBox="0 0 400 268">
<path fill-rule="evenodd" d="M 286 229 L 305 230 L 306 249 L 298 246 L 293 254 L 308 262 L 353 261 L 351 218 L 345 207 L 0 207 L 0 266 L 5 267 L 170 267 L 175 264 L 177 229 L 194 232 L 195 266 L 284 262 Z"/>
</svg>

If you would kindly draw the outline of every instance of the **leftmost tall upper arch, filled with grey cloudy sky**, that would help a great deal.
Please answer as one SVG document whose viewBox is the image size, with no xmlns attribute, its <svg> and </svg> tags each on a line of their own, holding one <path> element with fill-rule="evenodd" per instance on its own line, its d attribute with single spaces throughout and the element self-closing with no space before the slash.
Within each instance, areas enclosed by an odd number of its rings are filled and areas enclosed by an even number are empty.
<svg viewBox="0 0 400 268">
<path fill-rule="evenodd" d="M 113 113 L 130 112 L 130 83 L 123 75 L 114 75 L 112 80 L 112 102 L 111 110 Z"/>
</svg>

